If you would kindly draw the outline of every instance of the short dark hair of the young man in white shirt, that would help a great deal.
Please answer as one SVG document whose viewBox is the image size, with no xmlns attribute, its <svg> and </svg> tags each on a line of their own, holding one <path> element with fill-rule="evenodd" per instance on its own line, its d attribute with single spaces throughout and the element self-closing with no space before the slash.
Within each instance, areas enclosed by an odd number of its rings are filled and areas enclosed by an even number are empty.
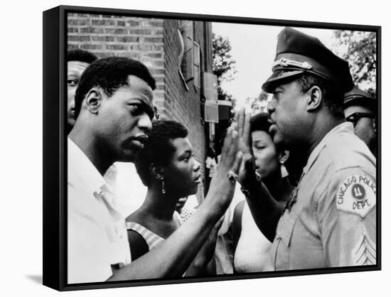
<svg viewBox="0 0 391 297">
<path fill-rule="evenodd" d="M 82 101 L 92 87 L 101 87 L 107 96 L 128 84 L 129 75 L 144 80 L 152 90 L 155 89 L 155 80 L 148 68 L 137 61 L 125 57 L 109 57 L 95 60 L 83 72 L 75 94 L 75 117 L 80 113 Z"/>
</svg>

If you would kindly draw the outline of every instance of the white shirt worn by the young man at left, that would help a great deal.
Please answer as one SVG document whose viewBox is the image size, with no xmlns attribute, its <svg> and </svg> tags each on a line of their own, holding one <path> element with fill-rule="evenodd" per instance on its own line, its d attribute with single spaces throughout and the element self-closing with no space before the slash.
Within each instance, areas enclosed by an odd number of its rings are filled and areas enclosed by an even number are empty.
<svg viewBox="0 0 391 297">
<path fill-rule="evenodd" d="M 124 217 L 95 166 L 68 139 L 68 284 L 106 281 L 130 263 Z"/>
</svg>

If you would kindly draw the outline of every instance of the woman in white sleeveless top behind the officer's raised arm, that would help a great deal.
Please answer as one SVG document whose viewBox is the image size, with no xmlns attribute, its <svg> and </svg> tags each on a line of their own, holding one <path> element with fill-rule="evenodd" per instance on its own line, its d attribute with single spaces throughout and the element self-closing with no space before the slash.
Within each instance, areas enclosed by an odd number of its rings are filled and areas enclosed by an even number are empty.
<svg viewBox="0 0 391 297">
<path fill-rule="evenodd" d="M 288 151 L 274 146 L 269 134 L 269 114 L 259 113 L 251 119 L 252 153 L 255 170 L 262 177 L 270 194 L 282 205 L 286 204 L 293 187 L 289 184 L 284 162 Z M 269 249 L 272 242 L 264 237 L 252 219 L 250 209 L 244 200 L 235 207 L 232 219 L 232 237 L 235 248 L 234 269 L 236 272 L 259 272 L 271 270 Z"/>
</svg>

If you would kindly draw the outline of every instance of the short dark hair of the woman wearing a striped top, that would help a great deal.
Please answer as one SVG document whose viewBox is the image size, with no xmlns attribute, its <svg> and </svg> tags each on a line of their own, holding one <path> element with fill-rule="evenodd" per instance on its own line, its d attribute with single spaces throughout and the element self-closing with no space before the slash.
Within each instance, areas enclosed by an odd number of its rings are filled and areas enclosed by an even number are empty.
<svg viewBox="0 0 391 297">
<path fill-rule="evenodd" d="M 152 176 L 149 171 L 151 164 L 166 166 L 175 152 L 171 141 L 186 136 L 188 136 L 187 129 L 178 121 L 159 120 L 152 123 L 148 141 L 137 155 L 135 162 L 136 171 L 144 185 L 147 187 L 151 185 Z"/>
</svg>

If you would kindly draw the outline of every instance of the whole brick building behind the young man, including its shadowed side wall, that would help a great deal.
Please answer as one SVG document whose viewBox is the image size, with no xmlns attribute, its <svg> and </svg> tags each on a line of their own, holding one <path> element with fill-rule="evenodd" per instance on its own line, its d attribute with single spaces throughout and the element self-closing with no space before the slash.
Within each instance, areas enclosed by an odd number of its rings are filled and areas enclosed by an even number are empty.
<svg viewBox="0 0 391 297">
<path fill-rule="evenodd" d="M 204 180 L 205 158 L 213 138 L 205 123 L 204 102 L 217 100 L 212 46 L 208 22 L 68 14 L 68 49 L 89 50 L 98 58 L 126 56 L 149 68 L 156 80 L 154 104 L 160 118 L 186 126 Z M 198 191 L 198 198 L 202 192 Z"/>
</svg>

